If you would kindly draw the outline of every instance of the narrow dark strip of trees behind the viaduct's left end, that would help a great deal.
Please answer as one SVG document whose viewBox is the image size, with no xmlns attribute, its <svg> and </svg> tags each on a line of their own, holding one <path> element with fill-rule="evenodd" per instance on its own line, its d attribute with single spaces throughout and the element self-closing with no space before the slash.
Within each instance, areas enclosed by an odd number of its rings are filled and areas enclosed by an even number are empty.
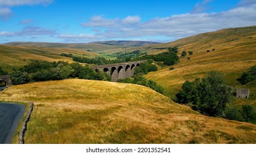
<svg viewBox="0 0 256 155">
<path fill-rule="evenodd" d="M 103 57 L 96 57 L 96 58 L 89 59 L 89 58 L 84 58 L 80 56 L 73 56 L 73 60 L 79 63 L 96 64 L 96 65 L 115 64 L 115 63 L 125 62 L 125 59 L 107 60 Z"/>
</svg>

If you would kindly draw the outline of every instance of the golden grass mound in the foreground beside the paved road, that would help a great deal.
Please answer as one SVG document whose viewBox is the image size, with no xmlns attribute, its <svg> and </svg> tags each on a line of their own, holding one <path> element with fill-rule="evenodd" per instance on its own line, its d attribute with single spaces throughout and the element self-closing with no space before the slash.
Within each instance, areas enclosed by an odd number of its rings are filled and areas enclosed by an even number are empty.
<svg viewBox="0 0 256 155">
<path fill-rule="evenodd" d="M 256 125 L 203 116 L 139 85 L 36 82 L 9 87 L 0 100 L 34 101 L 25 143 L 256 142 Z"/>
</svg>

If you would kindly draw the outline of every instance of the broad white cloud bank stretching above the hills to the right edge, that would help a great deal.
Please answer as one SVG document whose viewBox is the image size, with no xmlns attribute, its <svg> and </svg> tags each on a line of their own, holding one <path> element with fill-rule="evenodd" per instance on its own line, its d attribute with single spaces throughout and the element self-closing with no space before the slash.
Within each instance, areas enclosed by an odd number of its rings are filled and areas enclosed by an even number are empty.
<svg viewBox="0 0 256 155">
<path fill-rule="evenodd" d="M 207 4 L 211 0 L 203 1 Z M 245 2 L 242 1 L 242 2 Z M 249 2 L 247 0 L 247 2 Z M 95 34 L 84 37 L 72 35 L 66 39 L 83 38 L 85 40 L 110 40 L 115 38 L 138 38 L 161 35 L 171 39 L 179 39 L 190 35 L 211 32 L 223 28 L 245 27 L 256 25 L 256 4 L 238 6 L 220 13 L 186 13 L 170 17 L 153 18 L 141 22 L 139 16 L 128 16 L 124 19 L 106 19 L 94 16 L 81 24 L 83 27 L 97 29 Z M 101 30 L 100 30 L 101 29 Z M 89 40 L 90 41 L 90 40 Z"/>
</svg>

